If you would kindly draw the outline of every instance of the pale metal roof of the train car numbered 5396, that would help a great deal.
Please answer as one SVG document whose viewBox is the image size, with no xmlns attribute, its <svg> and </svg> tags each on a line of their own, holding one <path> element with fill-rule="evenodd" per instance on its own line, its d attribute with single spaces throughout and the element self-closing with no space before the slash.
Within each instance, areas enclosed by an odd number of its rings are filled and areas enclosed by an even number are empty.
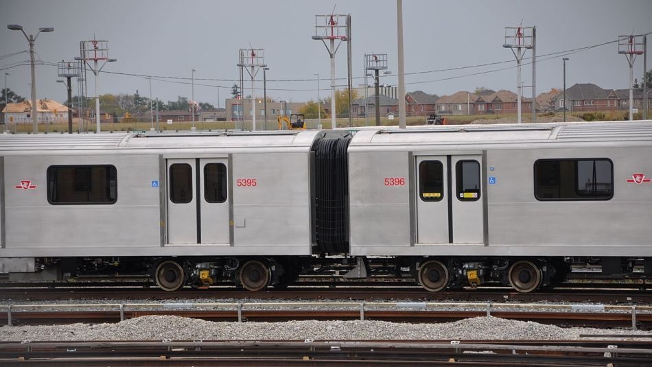
<svg viewBox="0 0 652 367">
<path fill-rule="evenodd" d="M 351 145 L 652 141 L 652 120 L 360 128 Z"/>
</svg>

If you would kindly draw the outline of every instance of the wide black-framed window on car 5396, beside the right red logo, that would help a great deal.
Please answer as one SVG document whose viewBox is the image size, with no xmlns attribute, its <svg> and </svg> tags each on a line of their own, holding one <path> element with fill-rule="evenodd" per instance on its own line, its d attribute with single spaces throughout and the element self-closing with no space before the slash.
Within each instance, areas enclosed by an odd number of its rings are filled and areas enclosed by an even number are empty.
<svg viewBox="0 0 652 367">
<path fill-rule="evenodd" d="M 609 200 L 614 165 L 606 158 L 541 159 L 535 162 L 537 200 Z"/>
</svg>

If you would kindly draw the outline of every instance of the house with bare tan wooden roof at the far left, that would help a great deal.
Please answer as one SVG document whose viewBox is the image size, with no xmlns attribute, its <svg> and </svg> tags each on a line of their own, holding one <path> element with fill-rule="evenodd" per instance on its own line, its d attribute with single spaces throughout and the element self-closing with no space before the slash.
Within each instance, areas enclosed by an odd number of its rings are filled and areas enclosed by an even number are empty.
<svg viewBox="0 0 652 367">
<path fill-rule="evenodd" d="M 5 123 L 32 121 L 32 101 L 10 103 L 3 108 Z M 36 99 L 36 119 L 39 123 L 68 121 L 68 108 L 52 99 Z"/>
</svg>

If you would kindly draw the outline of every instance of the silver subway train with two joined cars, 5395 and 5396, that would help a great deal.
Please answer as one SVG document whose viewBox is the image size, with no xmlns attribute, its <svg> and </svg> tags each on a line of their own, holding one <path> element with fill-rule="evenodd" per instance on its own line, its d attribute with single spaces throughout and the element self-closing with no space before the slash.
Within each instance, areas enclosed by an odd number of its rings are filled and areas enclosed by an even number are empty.
<svg viewBox="0 0 652 367">
<path fill-rule="evenodd" d="M 652 121 L 2 134 L 0 273 L 533 292 L 575 262 L 652 274 L 651 181 Z"/>
</svg>

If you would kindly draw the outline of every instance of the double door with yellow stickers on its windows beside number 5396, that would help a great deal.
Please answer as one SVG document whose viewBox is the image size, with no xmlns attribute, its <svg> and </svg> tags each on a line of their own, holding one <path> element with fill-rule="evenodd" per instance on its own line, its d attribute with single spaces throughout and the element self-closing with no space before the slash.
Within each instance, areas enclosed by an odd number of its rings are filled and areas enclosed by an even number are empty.
<svg viewBox="0 0 652 367">
<path fill-rule="evenodd" d="M 417 156 L 417 244 L 484 242 L 482 156 Z"/>
</svg>

